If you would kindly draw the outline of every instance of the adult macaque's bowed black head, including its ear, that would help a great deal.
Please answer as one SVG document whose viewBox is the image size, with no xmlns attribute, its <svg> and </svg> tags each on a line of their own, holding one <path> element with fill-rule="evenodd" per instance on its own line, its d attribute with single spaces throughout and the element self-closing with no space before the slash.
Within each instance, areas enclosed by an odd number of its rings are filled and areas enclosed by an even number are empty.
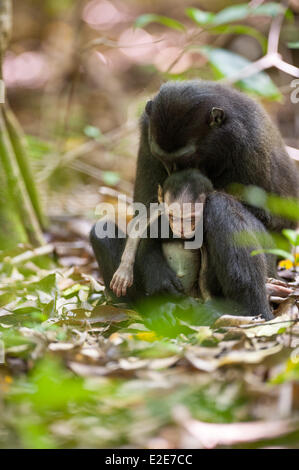
<svg viewBox="0 0 299 470">
<path fill-rule="evenodd" d="M 220 85 L 208 82 L 169 82 L 148 101 L 150 149 L 168 174 L 196 167 L 211 139 L 219 143 L 217 130 L 226 122 L 223 95 Z"/>
</svg>

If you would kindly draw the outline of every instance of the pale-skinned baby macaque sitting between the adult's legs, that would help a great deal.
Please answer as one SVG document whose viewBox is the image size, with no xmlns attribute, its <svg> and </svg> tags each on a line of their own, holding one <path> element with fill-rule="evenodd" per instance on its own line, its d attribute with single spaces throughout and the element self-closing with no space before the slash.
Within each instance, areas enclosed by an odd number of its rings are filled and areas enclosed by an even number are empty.
<svg viewBox="0 0 299 470">
<path fill-rule="evenodd" d="M 198 275 L 200 252 L 197 248 L 185 248 L 186 240 L 192 240 L 199 223 L 202 223 L 203 205 L 206 196 L 213 191 L 212 183 L 198 170 L 185 170 L 170 175 L 163 188 L 158 187 L 159 210 L 149 216 L 145 229 L 157 221 L 160 215 L 168 218 L 172 237 L 163 241 L 163 253 L 184 291 L 189 295 L 198 295 Z M 136 223 L 140 219 L 136 218 Z M 144 222 L 144 221 L 143 221 Z M 133 268 L 140 238 L 131 238 L 130 234 L 121 257 L 121 263 L 114 273 L 110 288 L 117 297 L 125 296 L 133 284 Z"/>
</svg>

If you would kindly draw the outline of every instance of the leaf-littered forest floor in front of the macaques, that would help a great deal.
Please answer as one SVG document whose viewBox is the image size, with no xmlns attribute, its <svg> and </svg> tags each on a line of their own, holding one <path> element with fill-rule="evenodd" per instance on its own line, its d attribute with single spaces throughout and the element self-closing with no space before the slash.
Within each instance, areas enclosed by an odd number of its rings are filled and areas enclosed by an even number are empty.
<svg viewBox="0 0 299 470">
<path fill-rule="evenodd" d="M 299 447 L 298 274 L 269 322 L 141 315 L 109 302 L 73 226 L 1 254 L 2 448 Z"/>
</svg>

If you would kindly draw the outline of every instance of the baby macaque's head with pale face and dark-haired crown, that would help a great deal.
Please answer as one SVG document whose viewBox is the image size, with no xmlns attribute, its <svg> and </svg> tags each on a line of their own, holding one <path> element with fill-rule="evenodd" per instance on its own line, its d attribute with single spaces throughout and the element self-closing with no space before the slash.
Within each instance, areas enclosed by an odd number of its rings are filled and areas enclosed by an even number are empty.
<svg viewBox="0 0 299 470">
<path fill-rule="evenodd" d="M 192 238 L 202 217 L 211 181 L 196 169 L 173 173 L 158 187 L 158 200 L 165 204 L 172 232 L 179 238 Z"/>
</svg>

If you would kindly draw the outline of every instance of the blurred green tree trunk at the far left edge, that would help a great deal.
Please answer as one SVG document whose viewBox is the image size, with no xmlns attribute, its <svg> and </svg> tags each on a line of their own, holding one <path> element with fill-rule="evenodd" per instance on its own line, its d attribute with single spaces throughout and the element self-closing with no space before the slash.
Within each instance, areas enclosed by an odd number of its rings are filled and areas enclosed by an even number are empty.
<svg viewBox="0 0 299 470">
<path fill-rule="evenodd" d="M 0 0 L 0 79 L 11 34 L 11 0 Z M 5 101 L 5 99 L 3 100 Z M 22 130 L 7 103 L 0 104 L 0 249 L 43 243 L 42 211 Z"/>
</svg>

